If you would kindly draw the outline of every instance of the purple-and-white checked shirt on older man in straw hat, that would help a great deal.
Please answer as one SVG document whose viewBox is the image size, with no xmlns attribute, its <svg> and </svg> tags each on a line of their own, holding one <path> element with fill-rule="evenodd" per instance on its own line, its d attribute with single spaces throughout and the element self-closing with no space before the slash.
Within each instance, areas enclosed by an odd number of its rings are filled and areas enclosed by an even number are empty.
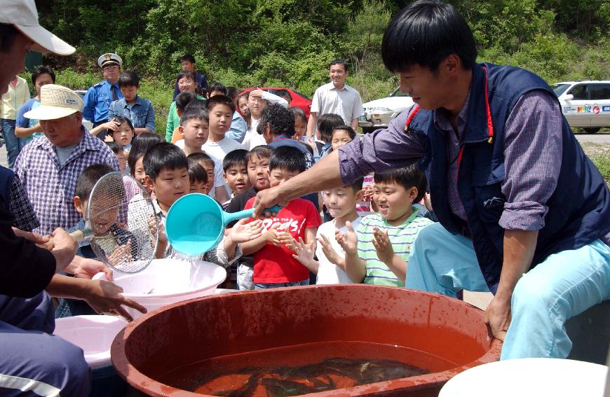
<svg viewBox="0 0 610 397">
<path fill-rule="evenodd" d="M 116 156 L 103 141 L 82 128 L 83 138 L 60 166 L 55 146 L 46 137 L 34 139 L 22 149 L 15 174 L 34 206 L 40 226 L 34 232 L 48 235 L 56 228 L 72 228 L 81 220 L 72 200 L 76 179 L 86 167 L 104 163 L 118 170 Z"/>
</svg>

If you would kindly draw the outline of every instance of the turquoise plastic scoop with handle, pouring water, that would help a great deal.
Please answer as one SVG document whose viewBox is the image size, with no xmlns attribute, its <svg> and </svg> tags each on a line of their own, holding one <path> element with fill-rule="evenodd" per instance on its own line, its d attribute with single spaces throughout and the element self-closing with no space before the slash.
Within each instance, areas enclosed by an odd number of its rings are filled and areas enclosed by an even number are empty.
<svg viewBox="0 0 610 397">
<path fill-rule="evenodd" d="M 265 211 L 279 212 L 277 205 Z M 224 212 L 216 200 L 201 193 L 180 197 L 165 219 L 165 234 L 172 247 L 187 256 L 200 256 L 218 245 L 226 225 L 252 216 L 254 209 Z"/>
</svg>

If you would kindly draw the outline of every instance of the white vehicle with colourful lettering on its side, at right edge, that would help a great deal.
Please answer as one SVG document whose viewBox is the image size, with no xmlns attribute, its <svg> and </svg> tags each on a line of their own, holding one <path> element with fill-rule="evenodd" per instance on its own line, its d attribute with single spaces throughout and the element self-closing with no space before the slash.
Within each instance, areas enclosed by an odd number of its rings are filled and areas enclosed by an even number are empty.
<svg viewBox="0 0 610 397">
<path fill-rule="evenodd" d="M 550 86 L 570 127 L 595 134 L 610 127 L 610 81 L 565 81 Z"/>
</svg>

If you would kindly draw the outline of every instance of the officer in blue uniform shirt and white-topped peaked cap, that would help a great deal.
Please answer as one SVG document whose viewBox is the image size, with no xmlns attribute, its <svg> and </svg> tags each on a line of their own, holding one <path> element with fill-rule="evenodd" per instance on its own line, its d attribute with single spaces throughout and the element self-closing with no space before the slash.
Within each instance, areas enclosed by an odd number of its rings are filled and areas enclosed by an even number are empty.
<svg viewBox="0 0 610 397">
<path fill-rule="evenodd" d="M 123 60 L 116 54 L 107 53 L 97 59 L 97 64 L 102 68 L 104 81 L 100 81 L 87 90 L 83 101 L 83 118 L 90 120 L 93 127 L 109 121 L 108 110 L 113 101 L 123 98 L 118 88 L 118 76 L 121 74 Z M 104 139 L 107 130 L 102 130 L 97 137 Z"/>
</svg>

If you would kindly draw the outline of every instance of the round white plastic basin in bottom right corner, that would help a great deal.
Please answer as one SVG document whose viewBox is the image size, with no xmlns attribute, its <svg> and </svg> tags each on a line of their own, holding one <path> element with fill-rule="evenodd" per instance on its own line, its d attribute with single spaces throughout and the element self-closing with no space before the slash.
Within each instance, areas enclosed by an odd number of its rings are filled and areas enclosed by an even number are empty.
<svg viewBox="0 0 610 397">
<path fill-rule="evenodd" d="M 445 384 L 439 397 L 603 397 L 608 367 L 559 358 L 519 358 L 479 365 Z"/>
</svg>

